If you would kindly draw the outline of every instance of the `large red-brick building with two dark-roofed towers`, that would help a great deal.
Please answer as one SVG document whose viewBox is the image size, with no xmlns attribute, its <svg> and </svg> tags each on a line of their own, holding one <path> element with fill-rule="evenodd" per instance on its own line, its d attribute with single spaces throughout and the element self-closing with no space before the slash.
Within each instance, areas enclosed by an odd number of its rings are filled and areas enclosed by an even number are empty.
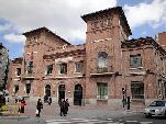
<svg viewBox="0 0 166 124">
<path fill-rule="evenodd" d="M 129 40 L 132 33 L 121 7 L 81 18 L 87 23 L 81 45 L 46 27 L 24 33 L 23 58 L 11 65 L 12 95 L 51 95 L 56 102 L 68 98 L 75 105 L 122 105 L 126 98 L 132 105 L 144 105 L 165 98 L 165 38 Z"/>
</svg>

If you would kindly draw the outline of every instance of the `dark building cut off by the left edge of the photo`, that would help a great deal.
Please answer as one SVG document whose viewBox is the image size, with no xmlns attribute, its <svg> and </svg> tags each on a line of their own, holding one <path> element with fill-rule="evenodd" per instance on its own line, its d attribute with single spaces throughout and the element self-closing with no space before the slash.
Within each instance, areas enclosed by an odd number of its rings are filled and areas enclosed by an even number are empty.
<svg viewBox="0 0 166 124">
<path fill-rule="evenodd" d="M 0 43 L 0 92 L 5 90 L 8 80 L 9 55 L 8 49 Z"/>
</svg>

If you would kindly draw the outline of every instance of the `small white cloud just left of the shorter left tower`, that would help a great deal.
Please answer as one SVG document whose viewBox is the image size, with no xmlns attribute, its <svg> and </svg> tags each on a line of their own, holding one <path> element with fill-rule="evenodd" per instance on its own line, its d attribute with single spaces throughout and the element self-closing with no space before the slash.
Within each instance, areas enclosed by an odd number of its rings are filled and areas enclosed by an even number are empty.
<svg viewBox="0 0 166 124">
<path fill-rule="evenodd" d="M 25 37 L 23 35 L 16 35 L 16 34 L 7 34 L 3 36 L 4 40 L 7 40 L 10 43 L 22 43 L 24 44 Z"/>
</svg>

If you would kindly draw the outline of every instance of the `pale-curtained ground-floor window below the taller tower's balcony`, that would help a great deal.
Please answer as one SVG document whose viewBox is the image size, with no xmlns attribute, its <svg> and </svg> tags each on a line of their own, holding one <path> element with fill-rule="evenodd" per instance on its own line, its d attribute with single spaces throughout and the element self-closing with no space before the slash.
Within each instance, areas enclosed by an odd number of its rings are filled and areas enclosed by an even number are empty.
<svg viewBox="0 0 166 124">
<path fill-rule="evenodd" d="M 108 99 L 108 83 L 97 83 L 97 99 Z"/>
</svg>

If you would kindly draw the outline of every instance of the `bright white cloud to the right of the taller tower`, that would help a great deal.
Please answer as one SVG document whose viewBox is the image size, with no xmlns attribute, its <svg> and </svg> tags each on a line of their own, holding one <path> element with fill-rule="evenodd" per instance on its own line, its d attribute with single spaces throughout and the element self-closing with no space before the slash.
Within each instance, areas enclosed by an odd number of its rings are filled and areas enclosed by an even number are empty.
<svg viewBox="0 0 166 124">
<path fill-rule="evenodd" d="M 166 0 L 153 0 L 151 3 L 140 3 L 134 7 L 124 5 L 126 19 L 132 29 L 143 24 L 158 27 L 166 24 Z"/>
</svg>

